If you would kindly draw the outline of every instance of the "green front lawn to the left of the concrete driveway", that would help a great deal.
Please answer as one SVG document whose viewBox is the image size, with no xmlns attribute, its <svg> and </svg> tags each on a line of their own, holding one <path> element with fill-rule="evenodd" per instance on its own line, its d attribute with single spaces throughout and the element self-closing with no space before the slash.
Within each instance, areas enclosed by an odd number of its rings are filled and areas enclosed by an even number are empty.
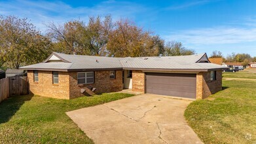
<svg viewBox="0 0 256 144">
<path fill-rule="evenodd" d="M 71 100 L 14 96 L 0 103 L 0 143 L 93 143 L 65 114 L 132 94 L 102 94 Z"/>
</svg>

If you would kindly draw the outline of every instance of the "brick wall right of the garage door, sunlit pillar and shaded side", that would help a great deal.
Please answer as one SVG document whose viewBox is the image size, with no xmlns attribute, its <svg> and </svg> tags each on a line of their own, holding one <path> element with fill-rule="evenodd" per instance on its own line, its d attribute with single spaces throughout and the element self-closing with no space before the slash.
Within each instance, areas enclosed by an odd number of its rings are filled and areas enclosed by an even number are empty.
<svg viewBox="0 0 256 144">
<path fill-rule="evenodd" d="M 222 71 L 216 71 L 216 80 L 210 80 L 210 71 L 196 75 L 196 99 L 204 99 L 222 90 Z"/>
</svg>

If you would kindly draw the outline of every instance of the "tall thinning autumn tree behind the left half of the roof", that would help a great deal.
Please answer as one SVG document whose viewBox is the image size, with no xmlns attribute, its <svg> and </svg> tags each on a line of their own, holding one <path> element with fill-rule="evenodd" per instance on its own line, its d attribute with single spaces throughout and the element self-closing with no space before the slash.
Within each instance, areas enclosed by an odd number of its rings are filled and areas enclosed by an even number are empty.
<svg viewBox="0 0 256 144">
<path fill-rule="evenodd" d="M 54 41 L 56 51 L 65 54 L 86 54 L 105 56 L 108 35 L 113 28 L 111 16 L 90 17 L 88 24 L 80 20 L 66 22 L 64 25 L 46 24 L 48 36 Z"/>
</svg>

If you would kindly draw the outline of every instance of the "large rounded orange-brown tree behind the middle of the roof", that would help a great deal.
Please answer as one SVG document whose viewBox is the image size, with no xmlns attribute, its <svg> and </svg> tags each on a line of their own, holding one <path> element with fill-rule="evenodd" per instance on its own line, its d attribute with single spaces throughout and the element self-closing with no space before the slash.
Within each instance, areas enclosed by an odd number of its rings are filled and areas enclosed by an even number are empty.
<svg viewBox="0 0 256 144">
<path fill-rule="evenodd" d="M 144 31 L 128 19 L 115 22 L 107 43 L 109 56 L 157 56 L 164 50 L 164 41 L 151 31 Z"/>
</svg>

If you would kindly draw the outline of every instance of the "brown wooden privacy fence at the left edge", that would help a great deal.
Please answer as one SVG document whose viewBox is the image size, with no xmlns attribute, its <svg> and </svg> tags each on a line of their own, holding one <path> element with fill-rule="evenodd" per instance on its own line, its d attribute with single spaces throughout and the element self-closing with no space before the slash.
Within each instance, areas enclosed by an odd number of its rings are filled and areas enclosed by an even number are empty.
<svg viewBox="0 0 256 144">
<path fill-rule="evenodd" d="M 12 95 L 28 94 L 28 81 L 26 76 L 7 77 L 0 80 L 0 102 Z"/>
</svg>

